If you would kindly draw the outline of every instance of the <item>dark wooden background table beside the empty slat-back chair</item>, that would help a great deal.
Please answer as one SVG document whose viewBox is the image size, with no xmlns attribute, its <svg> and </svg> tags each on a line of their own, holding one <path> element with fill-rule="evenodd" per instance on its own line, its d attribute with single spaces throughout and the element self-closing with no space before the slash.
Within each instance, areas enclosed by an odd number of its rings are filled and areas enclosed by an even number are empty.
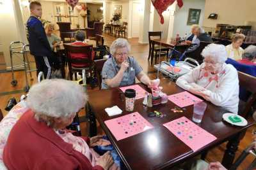
<svg viewBox="0 0 256 170">
<path fill-rule="evenodd" d="M 166 46 L 166 47 L 169 47 L 169 48 L 180 48 L 181 51 L 180 52 L 184 52 L 184 50 L 189 46 L 185 43 L 171 43 L 170 41 L 168 41 L 168 39 L 151 39 L 150 41 L 151 43 L 151 46 L 152 46 L 152 50 L 151 50 L 151 60 L 153 60 L 154 58 L 154 48 L 155 48 L 155 45 L 161 45 L 161 46 Z M 152 63 L 152 61 L 151 61 Z"/>
</svg>

